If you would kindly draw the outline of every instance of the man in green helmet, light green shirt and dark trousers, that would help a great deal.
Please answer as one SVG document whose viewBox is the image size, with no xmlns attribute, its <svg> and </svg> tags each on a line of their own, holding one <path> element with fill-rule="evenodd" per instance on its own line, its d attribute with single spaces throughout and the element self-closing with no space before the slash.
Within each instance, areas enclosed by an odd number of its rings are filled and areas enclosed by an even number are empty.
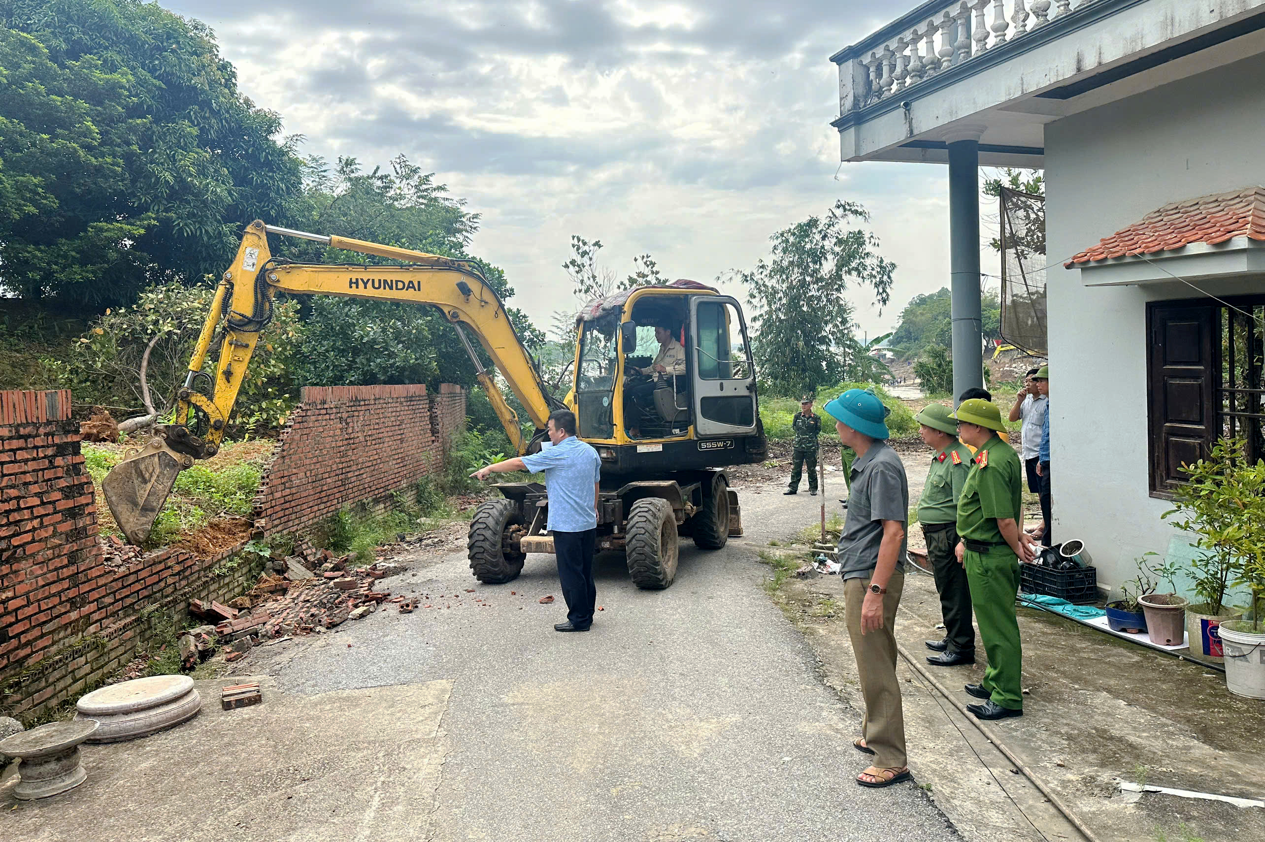
<svg viewBox="0 0 1265 842">
<path fill-rule="evenodd" d="M 927 541 L 927 558 L 940 594 L 940 614 L 945 621 L 944 640 L 926 641 L 939 655 L 927 657 L 932 666 L 958 666 L 975 662 L 975 627 L 970 623 L 970 585 L 958 563 L 958 498 L 970 473 L 970 450 L 958 441 L 951 410 L 929 403 L 915 418 L 918 434 L 931 448 L 931 470 L 918 499 L 918 523 Z"/>
</svg>

